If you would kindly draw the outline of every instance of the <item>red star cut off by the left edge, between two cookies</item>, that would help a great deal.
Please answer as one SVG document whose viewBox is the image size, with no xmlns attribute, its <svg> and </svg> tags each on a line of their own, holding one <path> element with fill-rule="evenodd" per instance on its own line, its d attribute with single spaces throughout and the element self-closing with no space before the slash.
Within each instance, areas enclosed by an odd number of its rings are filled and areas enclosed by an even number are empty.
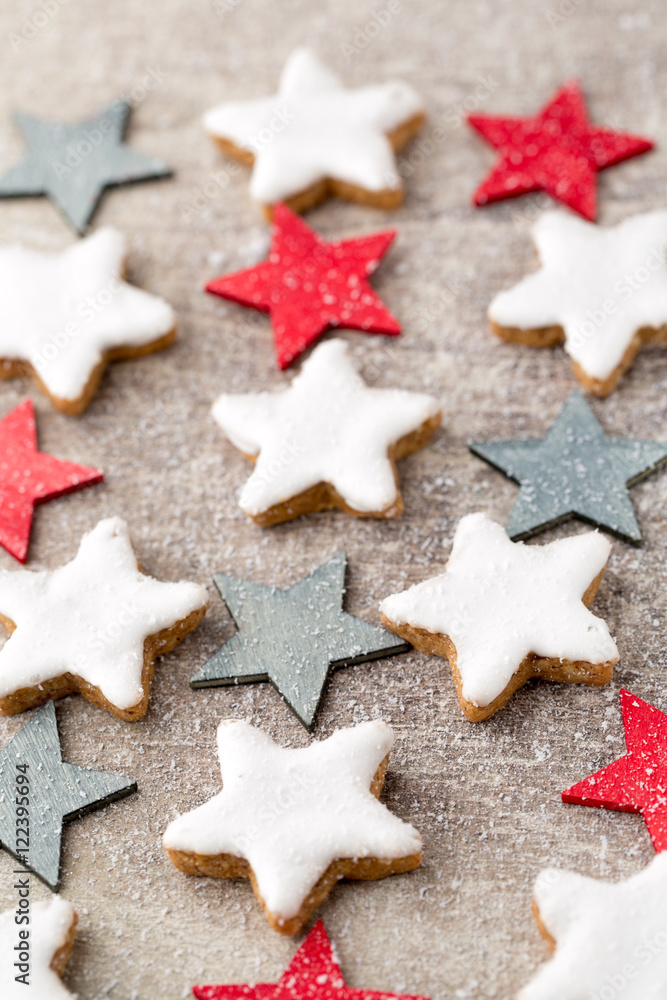
<svg viewBox="0 0 667 1000">
<path fill-rule="evenodd" d="M 0 420 L 0 545 L 25 562 L 35 505 L 103 478 L 99 469 L 38 451 L 32 402 L 19 403 Z"/>
</svg>

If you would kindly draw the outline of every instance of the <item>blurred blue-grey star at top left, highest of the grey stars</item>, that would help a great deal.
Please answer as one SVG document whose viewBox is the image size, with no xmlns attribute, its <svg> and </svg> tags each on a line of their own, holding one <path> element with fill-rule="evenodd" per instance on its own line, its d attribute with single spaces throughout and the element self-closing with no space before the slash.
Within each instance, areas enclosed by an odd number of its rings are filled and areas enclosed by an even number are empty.
<svg viewBox="0 0 667 1000">
<path fill-rule="evenodd" d="M 130 110 L 114 101 L 73 125 L 16 114 L 28 155 L 0 177 L 0 198 L 45 194 L 83 233 L 105 188 L 169 176 L 166 163 L 123 143 Z"/>
</svg>

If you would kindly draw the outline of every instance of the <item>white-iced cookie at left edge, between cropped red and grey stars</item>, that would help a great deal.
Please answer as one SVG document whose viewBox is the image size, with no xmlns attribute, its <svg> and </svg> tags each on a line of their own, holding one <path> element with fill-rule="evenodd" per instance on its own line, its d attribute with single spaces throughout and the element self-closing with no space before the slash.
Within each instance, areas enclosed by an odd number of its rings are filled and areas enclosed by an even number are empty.
<svg viewBox="0 0 667 1000">
<path fill-rule="evenodd" d="M 119 719 L 146 714 L 154 660 L 204 616 L 196 583 L 141 572 L 130 533 L 110 517 L 56 570 L 0 573 L 0 712 L 13 715 L 79 693 Z"/>
</svg>

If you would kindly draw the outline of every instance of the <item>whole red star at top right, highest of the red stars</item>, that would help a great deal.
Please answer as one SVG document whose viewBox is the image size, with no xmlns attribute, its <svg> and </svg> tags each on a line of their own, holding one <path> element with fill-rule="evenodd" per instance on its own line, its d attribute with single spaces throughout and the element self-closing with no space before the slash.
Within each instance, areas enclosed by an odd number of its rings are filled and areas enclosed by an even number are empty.
<svg viewBox="0 0 667 1000">
<path fill-rule="evenodd" d="M 468 121 L 501 154 L 477 188 L 475 205 L 543 190 L 594 221 L 597 171 L 653 148 L 650 139 L 591 125 L 576 80 L 533 118 L 468 115 Z"/>
</svg>

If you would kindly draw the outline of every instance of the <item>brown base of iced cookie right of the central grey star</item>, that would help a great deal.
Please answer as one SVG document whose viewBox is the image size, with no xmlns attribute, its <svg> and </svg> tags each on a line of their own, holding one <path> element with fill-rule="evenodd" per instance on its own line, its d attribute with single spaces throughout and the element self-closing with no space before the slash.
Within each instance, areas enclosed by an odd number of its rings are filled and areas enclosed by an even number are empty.
<svg viewBox="0 0 667 1000">
<path fill-rule="evenodd" d="M 586 607 L 593 603 L 603 575 L 604 569 L 595 577 L 582 597 Z M 605 663 L 588 663 L 585 660 L 549 659 L 536 656 L 535 653 L 529 653 L 517 667 L 504 691 L 501 691 L 488 705 L 479 706 L 471 701 L 466 701 L 463 697 L 463 682 L 456 665 L 456 646 L 449 636 L 438 632 L 429 632 L 428 629 L 408 624 L 399 625 L 387 618 L 386 615 L 382 616 L 382 624 L 422 653 L 444 656 L 449 660 L 459 704 L 469 722 L 482 722 L 484 719 L 490 718 L 498 709 L 507 704 L 515 691 L 518 691 L 533 677 L 545 681 L 555 681 L 558 684 L 592 684 L 597 687 L 610 682 L 614 663 L 616 663 L 616 660 Z"/>
</svg>

